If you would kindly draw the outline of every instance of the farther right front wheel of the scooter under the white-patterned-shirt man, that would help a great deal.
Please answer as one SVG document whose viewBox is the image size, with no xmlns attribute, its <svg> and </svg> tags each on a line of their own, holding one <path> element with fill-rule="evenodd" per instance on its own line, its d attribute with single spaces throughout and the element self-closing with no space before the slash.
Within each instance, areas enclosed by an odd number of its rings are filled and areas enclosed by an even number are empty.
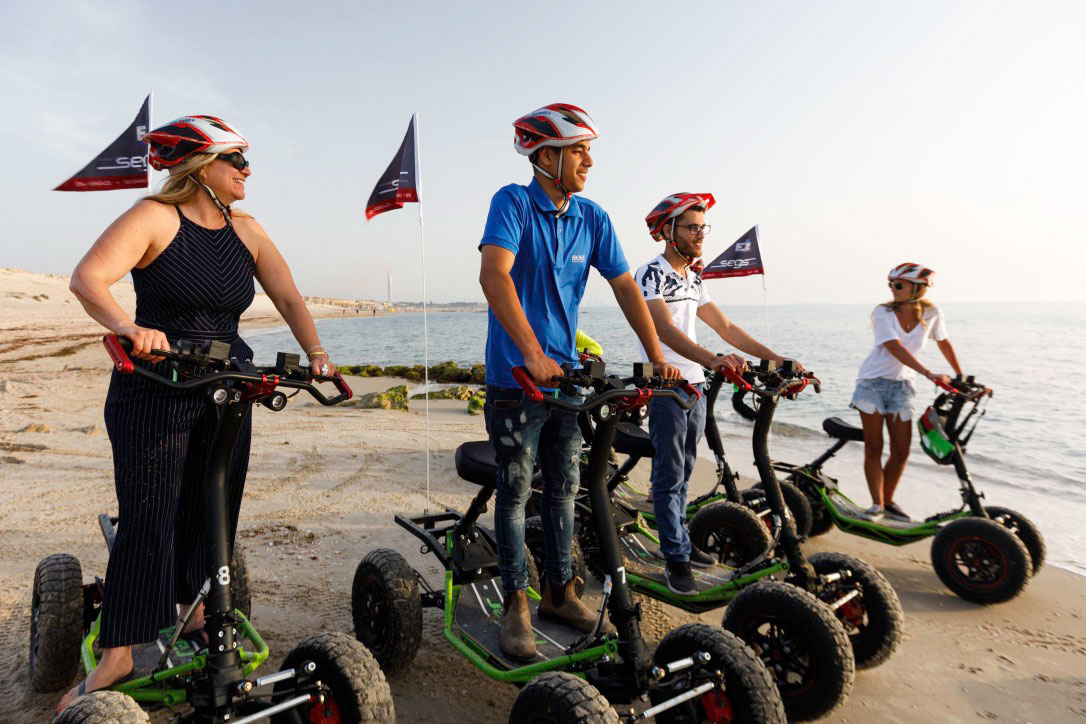
<svg viewBox="0 0 1086 724">
<path fill-rule="evenodd" d="M 850 574 L 822 587 L 818 597 L 826 605 L 859 592 L 834 609 L 853 644 L 856 668 L 873 669 L 886 661 L 905 633 L 905 612 L 889 581 L 870 563 L 845 554 L 815 554 L 808 561 L 820 575 L 841 571 Z"/>
</svg>

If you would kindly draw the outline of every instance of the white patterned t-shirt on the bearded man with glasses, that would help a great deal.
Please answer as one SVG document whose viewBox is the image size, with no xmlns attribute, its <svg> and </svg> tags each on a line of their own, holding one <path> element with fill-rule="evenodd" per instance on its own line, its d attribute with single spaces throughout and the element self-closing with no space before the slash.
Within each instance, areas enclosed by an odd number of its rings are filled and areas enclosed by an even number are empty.
<svg viewBox="0 0 1086 724">
<path fill-rule="evenodd" d="M 671 315 L 671 322 L 692 342 L 697 343 L 697 308 L 703 304 L 708 304 L 709 292 L 705 289 L 702 277 L 687 269 L 683 276 L 674 270 L 664 255 L 660 254 L 655 259 L 637 269 L 633 276 L 641 287 L 641 293 L 645 301 L 664 300 L 668 305 L 668 313 Z M 641 347 L 641 358 L 648 361 L 648 354 L 645 353 L 644 345 L 637 342 Z M 660 342 L 664 347 L 664 358 L 669 365 L 678 367 L 684 380 L 691 383 L 705 382 L 705 372 L 702 366 L 693 359 L 687 359 L 681 354 Z"/>
</svg>

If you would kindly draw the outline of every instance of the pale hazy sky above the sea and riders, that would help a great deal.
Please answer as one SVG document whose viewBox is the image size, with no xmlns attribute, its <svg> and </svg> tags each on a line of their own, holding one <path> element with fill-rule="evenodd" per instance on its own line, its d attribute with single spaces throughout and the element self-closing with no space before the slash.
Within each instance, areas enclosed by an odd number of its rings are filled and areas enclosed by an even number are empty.
<svg viewBox="0 0 1086 724">
<path fill-rule="evenodd" d="M 142 192 L 61 193 L 154 91 L 252 143 L 241 204 L 304 294 L 421 296 L 415 205 L 365 201 L 419 114 L 429 295 L 482 300 L 490 199 L 529 180 L 512 122 L 601 128 L 584 195 L 631 266 L 675 191 L 711 258 L 758 224 L 770 303 L 886 297 L 911 261 L 945 301 L 1086 300 L 1086 3 L 12 2 L 0 24 L 0 266 L 68 274 Z M 161 178 L 161 176 L 160 176 Z M 710 282 L 760 303 L 761 279 Z M 593 275 L 586 303 L 608 303 Z"/>
</svg>

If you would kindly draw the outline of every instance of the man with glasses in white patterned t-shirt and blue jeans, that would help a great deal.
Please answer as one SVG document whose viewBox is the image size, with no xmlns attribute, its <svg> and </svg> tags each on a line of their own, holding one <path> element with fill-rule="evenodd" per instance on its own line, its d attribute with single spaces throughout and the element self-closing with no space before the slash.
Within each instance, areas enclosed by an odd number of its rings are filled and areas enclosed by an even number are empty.
<svg viewBox="0 0 1086 724">
<path fill-rule="evenodd" d="M 683 379 L 700 390 L 703 367 L 743 371 L 746 363 L 737 355 L 718 357 L 697 343 L 696 319 L 720 339 L 760 359 L 784 360 L 724 316 L 705 289 L 700 275 L 691 268 L 702 256 L 702 242 L 709 232 L 705 212 L 714 204 L 711 193 L 675 193 L 645 217 L 648 232 L 664 241 L 664 253 L 639 268 L 634 275 L 667 360 L 679 368 Z M 645 354 L 645 351 L 642 351 Z M 697 443 L 705 430 L 705 397 L 690 410 L 678 405 L 648 403 L 648 435 L 656 448 L 653 457 L 653 509 L 660 552 L 667 560 L 668 588 L 680 596 L 697 595 L 691 566 L 707 568 L 714 559 L 695 548 L 686 530 L 686 488 Z"/>
</svg>

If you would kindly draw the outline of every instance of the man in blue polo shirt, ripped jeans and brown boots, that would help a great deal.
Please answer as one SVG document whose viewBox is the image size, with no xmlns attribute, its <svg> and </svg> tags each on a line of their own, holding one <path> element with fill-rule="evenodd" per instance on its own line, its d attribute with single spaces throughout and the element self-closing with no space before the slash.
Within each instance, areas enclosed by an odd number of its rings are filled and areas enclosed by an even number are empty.
<svg viewBox="0 0 1086 724">
<path fill-rule="evenodd" d="M 577 416 L 526 401 L 513 368 L 522 365 L 536 384 L 553 388 L 554 378 L 563 374 L 559 365 L 577 363 L 578 307 L 594 266 L 610 283 L 656 373 L 674 379 L 678 371 L 664 359 L 610 218 L 593 202 L 572 195 L 584 189 L 592 167 L 595 124 L 581 109 L 555 103 L 513 125 L 516 149 L 529 156 L 534 178 L 494 194 L 479 244 L 479 283 L 490 303 L 485 417 L 498 470 L 494 529 L 505 589 L 501 646 L 513 658 L 530 660 L 535 636 L 525 594 L 525 504 L 536 456 L 543 470 L 546 551 L 539 613 L 585 633 L 593 630 L 595 613 L 577 596 L 570 556 L 573 496 L 580 485 Z"/>
</svg>

